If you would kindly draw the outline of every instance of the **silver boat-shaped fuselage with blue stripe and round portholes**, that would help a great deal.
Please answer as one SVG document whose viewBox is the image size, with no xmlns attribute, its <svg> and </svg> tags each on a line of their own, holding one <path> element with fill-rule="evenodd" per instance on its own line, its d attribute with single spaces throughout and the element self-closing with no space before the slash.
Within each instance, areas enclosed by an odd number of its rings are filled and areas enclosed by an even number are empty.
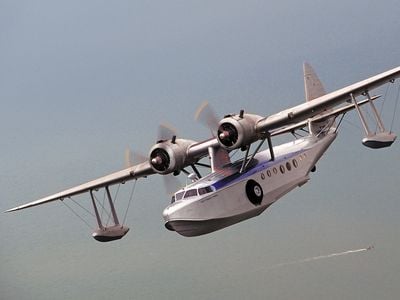
<svg viewBox="0 0 400 300">
<path fill-rule="evenodd" d="M 198 236 L 258 216 L 309 180 L 310 171 L 336 135 L 332 128 L 322 137 L 310 135 L 276 146 L 273 148 L 275 160 L 271 160 L 270 151 L 265 150 L 255 156 L 243 173 L 239 172 L 241 162 L 236 162 L 186 186 L 175 195 L 194 192 L 165 208 L 166 228 L 183 236 Z M 252 201 L 246 191 L 249 181 L 261 187 L 259 202 Z M 207 192 L 201 194 L 200 189 L 204 188 Z"/>
</svg>

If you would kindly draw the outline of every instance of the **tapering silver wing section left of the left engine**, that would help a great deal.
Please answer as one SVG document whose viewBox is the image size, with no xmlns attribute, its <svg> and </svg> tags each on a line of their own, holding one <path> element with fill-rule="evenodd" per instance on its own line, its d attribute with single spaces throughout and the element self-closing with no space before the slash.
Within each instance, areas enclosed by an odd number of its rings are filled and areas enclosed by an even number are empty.
<svg viewBox="0 0 400 300">
<path fill-rule="evenodd" d="M 6 210 L 6 212 L 11 212 L 11 211 L 16 211 L 40 204 L 44 204 L 47 202 L 55 201 L 55 200 L 62 200 L 64 198 L 76 196 L 85 192 L 89 192 L 90 190 L 96 190 L 105 186 L 117 184 L 117 183 L 123 183 L 128 180 L 132 179 L 138 179 L 140 177 L 145 177 L 147 175 L 154 174 L 153 169 L 151 168 L 149 162 L 144 162 L 141 164 L 138 164 L 136 166 L 129 167 L 127 169 L 106 175 L 104 177 L 89 181 L 87 183 L 78 185 L 76 187 L 67 189 L 65 191 L 56 193 L 54 195 L 50 195 L 48 197 L 29 202 L 27 204 L 17 206 L 14 208 L 11 208 L 9 210 Z"/>
</svg>

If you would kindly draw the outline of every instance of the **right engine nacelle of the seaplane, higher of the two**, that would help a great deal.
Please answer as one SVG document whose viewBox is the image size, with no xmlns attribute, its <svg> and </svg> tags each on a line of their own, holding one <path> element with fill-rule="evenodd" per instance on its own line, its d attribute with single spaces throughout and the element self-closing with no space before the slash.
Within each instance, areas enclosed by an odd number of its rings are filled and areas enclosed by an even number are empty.
<svg viewBox="0 0 400 300">
<path fill-rule="evenodd" d="M 218 142 L 227 150 L 234 150 L 260 139 L 256 124 L 263 117 L 252 114 L 231 115 L 223 118 L 218 126 Z"/>
</svg>

